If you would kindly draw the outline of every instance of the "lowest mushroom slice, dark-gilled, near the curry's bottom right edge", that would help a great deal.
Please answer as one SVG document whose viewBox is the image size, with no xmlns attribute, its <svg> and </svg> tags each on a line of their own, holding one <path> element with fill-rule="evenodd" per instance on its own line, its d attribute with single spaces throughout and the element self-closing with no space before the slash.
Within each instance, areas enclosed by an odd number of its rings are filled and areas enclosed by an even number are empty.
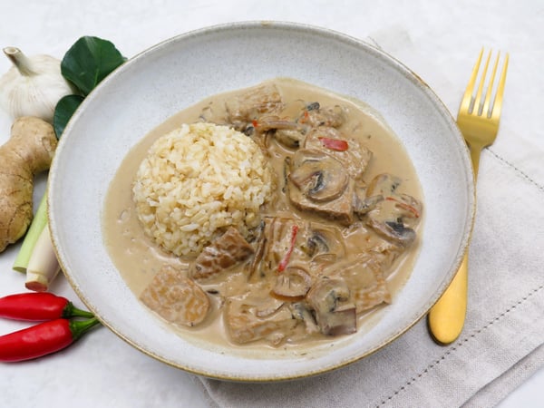
<svg viewBox="0 0 544 408">
<path fill-rule="evenodd" d="M 355 305 L 343 280 L 322 278 L 311 287 L 306 300 L 316 312 L 316 322 L 324 335 L 349 335 L 357 330 Z"/>
</svg>

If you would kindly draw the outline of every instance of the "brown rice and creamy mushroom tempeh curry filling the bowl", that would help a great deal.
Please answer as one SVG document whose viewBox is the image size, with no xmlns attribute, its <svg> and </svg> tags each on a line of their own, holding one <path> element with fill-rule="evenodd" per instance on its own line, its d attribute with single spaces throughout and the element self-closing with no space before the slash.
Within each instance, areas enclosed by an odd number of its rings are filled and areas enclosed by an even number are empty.
<svg viewBox="0 0 544 408">
<path fill-rule="evenodd" d="M 173 330 L 296 346 L 354 334 L 393 301 L 422 197 L 377 112 L 275 79 L 145 136 L 112 180 L 103 229 L 121 276 Z"/>
</svg>

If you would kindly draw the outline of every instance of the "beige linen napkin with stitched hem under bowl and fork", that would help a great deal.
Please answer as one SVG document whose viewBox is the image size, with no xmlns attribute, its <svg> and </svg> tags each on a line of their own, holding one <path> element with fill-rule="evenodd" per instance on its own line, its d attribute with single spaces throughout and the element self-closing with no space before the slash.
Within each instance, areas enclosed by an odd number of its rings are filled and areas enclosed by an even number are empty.
<svg viewBox="0 0 544 408">
<path fill-rule="evenodd" d="M 463 90 L 433 70 L 405 33 L 384 31 L 372 41 L 420 73 L 456 114 Z M 508 92 L 516 90 L 507 89 L 507 98 Z M 281 384 L 200 378 L 209 403 L 319 408 L 500 402 L 544 364 L 543 154 L 505 127 L 482 154 L 469 310 L 454 344 L 435 345 L 423 320 L 378 353 L 329 374 Z"/>
</svg>

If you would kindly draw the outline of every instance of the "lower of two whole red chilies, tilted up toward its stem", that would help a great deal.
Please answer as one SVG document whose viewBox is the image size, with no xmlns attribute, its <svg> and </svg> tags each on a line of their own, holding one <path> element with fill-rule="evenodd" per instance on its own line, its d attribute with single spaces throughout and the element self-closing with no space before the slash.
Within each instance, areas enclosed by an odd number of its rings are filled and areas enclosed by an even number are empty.
<svg viewBox="0 0 544 408">
<path fill-rule="evenodd" d="M 72 345 L 98 323 L 96 317 L 76 321 L 55 319 L 9 335 L 2 335 L 0 336 L 0 361 L 16 362 L 50 355 Z"/>
</svg>

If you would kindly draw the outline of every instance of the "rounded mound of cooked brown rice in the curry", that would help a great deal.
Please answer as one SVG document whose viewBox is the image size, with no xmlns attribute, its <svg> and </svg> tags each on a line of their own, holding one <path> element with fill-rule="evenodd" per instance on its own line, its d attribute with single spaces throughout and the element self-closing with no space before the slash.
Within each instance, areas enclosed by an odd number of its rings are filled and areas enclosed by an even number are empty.
<svg viewBox="0 0 544 408">
<path fill-rule="evenodd" d="M 175 255 L 195 256 L 229 226 L 248 238 L 273 184 L 273 170 L 248 136 L 194 123 L 152 144 L 132 193 L 146 235 Z"/>
</svg>

